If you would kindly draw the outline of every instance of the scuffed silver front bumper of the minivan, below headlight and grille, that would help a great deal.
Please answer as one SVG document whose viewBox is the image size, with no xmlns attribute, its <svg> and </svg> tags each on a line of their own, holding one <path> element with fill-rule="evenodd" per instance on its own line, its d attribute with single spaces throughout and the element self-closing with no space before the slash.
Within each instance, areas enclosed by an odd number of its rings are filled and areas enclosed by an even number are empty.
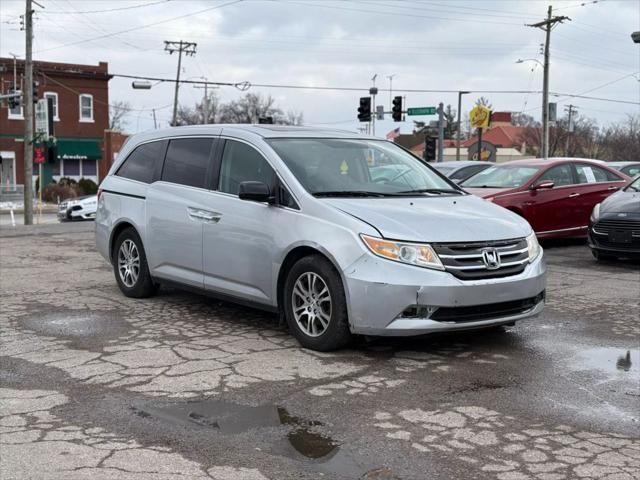
<svg viewBox="0 0 640 480">
<path fill-rule="evenodd" d="M 350 327 L 357 334 L 410 336 L 486 328 L 536 316 L 544 308 L 542 252 L 520 274 L 485 280 L 460 280 L 370 254 L 343 274 Z M 478 307 L 477 315 L 473 307 Z M 438 314 L 439 309 L 447 314 Z M 457 311 L 463 313 L 456 318 Z"/>
</svg>

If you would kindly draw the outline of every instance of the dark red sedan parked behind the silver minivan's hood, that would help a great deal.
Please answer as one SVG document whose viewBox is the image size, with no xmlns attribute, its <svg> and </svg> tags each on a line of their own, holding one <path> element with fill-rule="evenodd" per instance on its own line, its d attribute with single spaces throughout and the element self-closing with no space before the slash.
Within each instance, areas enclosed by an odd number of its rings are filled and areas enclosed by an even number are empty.
<svg viewBox="0 0 640 480">
<path fill-rule="evenodd" d="M 549 158 L 497 164 L 461 186 L 526 218 L 538 237 L 552 238 L 585 236 L 595 204 L 628 180 L 598 160 Z"/>
</svg>

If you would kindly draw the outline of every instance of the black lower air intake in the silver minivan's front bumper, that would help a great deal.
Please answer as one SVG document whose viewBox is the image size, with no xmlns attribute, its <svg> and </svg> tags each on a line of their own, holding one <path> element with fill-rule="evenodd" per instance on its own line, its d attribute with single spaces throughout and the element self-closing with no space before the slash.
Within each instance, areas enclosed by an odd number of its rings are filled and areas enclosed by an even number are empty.
<svg viewBox="0 0 640 480">
<path fill-rule="evenodd" d="M 510 317 L 526 313 L 542 300 L 544 300 L 544 292 L 540 292 L 535 297 L 510 302 L 474 305 L 471 307 L 440 307 L 431 315 L 431 320 L 437 322 L 465 323 Z"/>
</svg>

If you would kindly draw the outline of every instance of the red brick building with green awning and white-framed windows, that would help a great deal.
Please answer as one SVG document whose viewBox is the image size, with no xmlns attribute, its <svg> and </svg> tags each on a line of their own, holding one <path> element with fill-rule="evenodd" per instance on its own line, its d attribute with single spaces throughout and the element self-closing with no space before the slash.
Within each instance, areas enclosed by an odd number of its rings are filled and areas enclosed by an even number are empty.
<svg viewBox="0 0 640 480">
<path fill-rule="evenodd" d="M 18 88 L 23 83 L 24 63 L 16 65 Z M 14 60 L 0 58 L 0 90 L 13 83 Z M 52 98 L 57 155 L 44 163 L 44 184 L 51 179 L 89 178 L 96 183 L 106 174 L 110 159 L 103 159 L 104 131 L 109 128 L 108 65 L 77 65 L 34 62 L 34 80 L 39 82 L 38 98 Z M 24 184 L 24 108 L 0 108 L 0 156 L 2 186 Z M 34 165 L 34 181 L 38 175 Z"/>
</svg>

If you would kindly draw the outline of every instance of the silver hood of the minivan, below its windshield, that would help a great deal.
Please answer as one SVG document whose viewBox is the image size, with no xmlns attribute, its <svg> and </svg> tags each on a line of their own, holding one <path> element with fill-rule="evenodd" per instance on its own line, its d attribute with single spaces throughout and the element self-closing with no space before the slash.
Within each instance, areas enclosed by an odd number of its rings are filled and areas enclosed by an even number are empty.
<svg viewBox="0 0 640 480">
<path fill-rule="evenodd" d="M 531 233 L 522 217 L 473 195 L 322 201 L 372 225 L 383 237 L 395 240 L 478 242 Z"/>
</svg>

